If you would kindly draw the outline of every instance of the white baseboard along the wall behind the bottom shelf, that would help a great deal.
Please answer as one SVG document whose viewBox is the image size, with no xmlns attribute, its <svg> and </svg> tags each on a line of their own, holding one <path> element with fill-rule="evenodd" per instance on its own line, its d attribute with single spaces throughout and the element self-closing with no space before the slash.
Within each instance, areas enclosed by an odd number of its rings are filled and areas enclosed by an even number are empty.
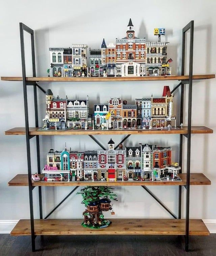
<svg viewBox="0 0 216 256">
<path fill-rule="evenodd" d="M 216 233 L 216 220 L 203 220 L 210 233 Z M 15 221 L 0 221 L 0 234 L 9 234 L 18 223 Z"/>
</svg>

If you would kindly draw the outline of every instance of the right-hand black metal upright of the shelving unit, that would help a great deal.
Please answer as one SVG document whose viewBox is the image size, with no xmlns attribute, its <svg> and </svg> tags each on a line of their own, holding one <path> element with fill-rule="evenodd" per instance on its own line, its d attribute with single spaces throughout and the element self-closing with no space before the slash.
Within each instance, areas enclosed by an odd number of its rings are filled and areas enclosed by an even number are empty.
<svg viewBox="0 0 216 256">
<path fill-rule="evenodd" d="M 191 109 L 192 109 L 192 83 L 193 83 L 193 32 L 194 21 L 189 22 L 182 30 L 182 75 L 185 73 L 185 33 L 190 30 L 189 49 L 189 88 L 188 88 L 188 134 L 187 134 L 187 184 L 186 184 L 186 224 L 185 224 L 185 250 L 189 250 L 189 208 L 190 208 L 190 150 L 191 150 Z M 184 88 L 181 91 L 184 94 Z M 183 99 L 181 98 L 183 108 Z M 182 111 L 182 109 L 181 109 Z M 181 114 L 183 119 L 183 113 Z"/>
</svg>

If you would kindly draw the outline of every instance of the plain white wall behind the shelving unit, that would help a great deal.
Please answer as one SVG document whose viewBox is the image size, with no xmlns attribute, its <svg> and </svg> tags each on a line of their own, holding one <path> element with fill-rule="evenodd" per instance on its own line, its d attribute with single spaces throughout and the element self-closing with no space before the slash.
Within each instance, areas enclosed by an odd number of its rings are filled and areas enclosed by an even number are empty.
<svg viewBox="0 0 216 256">
<path fill-rule="evenodd" d="M 181 73 L 182 28 L 194 20 L 194 74 L 216 73 L 216 2 L 164 0 L 156 1 L 4 1 L 0 9 L 0 76 L 21 76 L 21 54 L 19 22 L 23 22 L 35 32 L 37 76 L 47 76 L 50 65 L 49 47 L 69 47 L 72 43 L 87 44 L 100 48 L 103 38 L 107 44 L 115 43 L 115 38 L 125 36 L 129 18 L 132 19 L 136 35 L 146 37 L 146 41 L 156 41 L 155 27 L 165 27 L 166 36 L 162 40 L 170 42 L 168 57 L 173 74 Z M 29 36 L 25 36 L 27 75 L 31 76 Z M 192 125 L 216 127 L 216 80 L 194 81 L 192 102 Z M 51 88 L 55 96 L 86 97 L 89 95 L 90 108 L 94 102 L 106 102 L 109 97 L 121 96 L 128 103 L 136 97 L 161 97 L 163 85 L 172 89 L 178 81 L 167 82 L 40 82 L 44 89 Z M 7 182 L 18 173 L 27 173 L 25 136 L 5 136 L 4 131 L 13 127 L 24 127 L 24 104 L 22 82 L 0 81 L 0 220 L 29 218 L 28 187 L 8 187 Z M 186 86 L 187 87 L 187 86 Z M 29 92 L 30 126 L 34 126 L 33 92 Z M 179 113 L 179 92 L 175 93 L 175 108 Z M 45 114 L 45 96 L 38 92 L 39 119 Z M 178 121 L 179 124 L 179 121 Z M 118 143 L 124 136 L 112 136 Z M 110 136 L 97 136 L 107 145 Z M 190 196 L 190 217 L 216 220 L 216 175 L 215 175 L 215 134 L 192 135 L 191 172 L 202 172 L 212 182 L 211 186 L 192 186 Z M 45 164 L 46 153 L 50 148 L 62 150 L 64 143 L 74 150 L 97 150 L 99 147 L 88 136 L 41 136 L 41 163 Z M 131 135 L 124 144 L 153 143 L 172 146 L 173 160 L 178 161 L 179 135 Z M 36 163 L 35 140 L 32 139 L 32 170 Z M 183 170 L 184 171 L 184 170 Z M 67 195 L 73 187 L 43 187 L 44 214 Z M 151 186 L 153 193 L 175 214 L 178 213 L 177 186 Z M 33 190 L 34 213 L 38 217 L 38 189 Z M 184 188 L 183 188 L 184 191 Z M 170 217 L 141 187 L 116 187 L 118 202 L 114 203 L 115 215 L 109 217 Z M 185 191 L 184 191 L 185 193 Z M 185 198 L 185 194 L 184 194 Z M 83 205 L 81 196 L 72 195 L 51 217 L 81 218 Z M 183 200 L 185 205 L 185 199 Z M 185 207 L 183 212 L 185 213 Z M 184 214 L 183 214 L 184 215 Z M 2 224 L 5 224 L 4 222 Z M 2 225 L 4 226 L 4 225 Z M 9 228 L 6 228 L 5 232 Z M 4 232 L 4 230 L 2 231 Z"/>
</svg>

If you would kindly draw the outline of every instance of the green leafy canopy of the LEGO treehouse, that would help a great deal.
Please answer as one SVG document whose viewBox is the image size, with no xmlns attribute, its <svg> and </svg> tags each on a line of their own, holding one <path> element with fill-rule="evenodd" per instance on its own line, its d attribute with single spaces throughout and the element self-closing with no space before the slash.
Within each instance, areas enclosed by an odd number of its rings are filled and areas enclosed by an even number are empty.
<svg viewBox="0 0 216 256">
<path fill-rule="evenodd" d="M 108 186 L 87 186 L 84 187 L 77 194 L 82 195 L 82 204 L 87 206 L 90 202 L 99 201 L 101 198 L 108 198 L 110 200 L 118 201 L 117 195 L 113 193 L 112 187 Z"/>
</svg>

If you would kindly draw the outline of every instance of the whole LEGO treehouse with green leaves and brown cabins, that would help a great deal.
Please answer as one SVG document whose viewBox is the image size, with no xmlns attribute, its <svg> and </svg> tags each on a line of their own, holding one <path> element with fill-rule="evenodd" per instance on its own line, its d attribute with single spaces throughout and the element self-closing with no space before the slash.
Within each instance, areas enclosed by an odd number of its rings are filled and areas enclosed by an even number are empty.
<svg viewBox="0 0 216 256">
<path fill-rule="evenodd" d="M 103 211 L 112 209 L 111 200 L 117 201 L 117 195 L 114 194 L 111 187 L 108 186 L 87 186 L 77 194 L 82 195 L 82 204 L 87 209 L 83 212 L 84 221 L 82 226 L 89 228 L 105 228 L 111 224 L 111 221 L 104 219 Z"/>
</svg>

